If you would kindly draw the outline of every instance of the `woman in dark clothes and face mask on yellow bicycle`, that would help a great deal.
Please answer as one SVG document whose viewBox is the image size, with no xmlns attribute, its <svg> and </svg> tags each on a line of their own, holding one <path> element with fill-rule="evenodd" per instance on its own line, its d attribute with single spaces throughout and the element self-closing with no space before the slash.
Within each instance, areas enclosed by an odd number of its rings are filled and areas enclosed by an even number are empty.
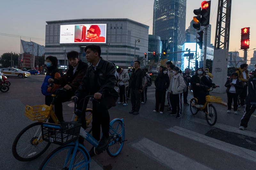
<svg viewBox="0 0 256 170">
<path fill-rule="evenodd" d="M 204 105 L 205 103 L 205 96 L 207 95 L 207 91 L 205 87 L 200 85 L 206 85 L 209 88 L 212 87 L 213 84 L 207 77 L 203 75 L 204 70 L 203 68 L 198 68 L 196 70 L 195 75 L 193 75 L 190 79 L 190 84 L 193 89 L 193 95 L 198 99 L 198 105 L 196 107 L 200 108 L 200 105 Z"/>
</svg>

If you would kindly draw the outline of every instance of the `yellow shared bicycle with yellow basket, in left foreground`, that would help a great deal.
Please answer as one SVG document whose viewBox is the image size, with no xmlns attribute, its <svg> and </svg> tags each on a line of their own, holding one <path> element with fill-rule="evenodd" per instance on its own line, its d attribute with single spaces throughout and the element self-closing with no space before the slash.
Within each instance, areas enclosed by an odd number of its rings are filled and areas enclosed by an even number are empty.
<svg viewBox="0 0 256 170">
<path fill-rule="evenodd" d="M 42 137 L 41 124 L 49 122 L 51 118 L 54 123 L 60 123 L 57 116 L 54 114 L 53 106 L 58 96 L 58 91 L 66 91 L 63 88 L 57 90 L 56 95 L 52 94 L 53 99 L 50 106 L 37 105 L 26 106 L 25 115 L 33 120 L 38 121 L 28 125 L 20 131 L 12 144 L 12 154 L 15 159 L 20 161 L 31 161 L 42 155 L 50 146 L 50 142 L 46 142 Z M 76 105 L 76 104 L 75 104 Z M 92 131 L 92 109 L 86 109 L 86 130 L 88 133 Z M 76 121 L 77 117 L 74 114 L 71 121 Z"/>
</svg>

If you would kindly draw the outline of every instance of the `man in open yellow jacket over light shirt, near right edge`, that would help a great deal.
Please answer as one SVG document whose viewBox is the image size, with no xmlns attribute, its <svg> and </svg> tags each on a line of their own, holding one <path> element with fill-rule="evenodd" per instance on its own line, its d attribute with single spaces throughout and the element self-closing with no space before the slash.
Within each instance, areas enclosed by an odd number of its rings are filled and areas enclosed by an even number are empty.
<svg viewBox="0 0 256 170">
<path fill-rule="evenodd" d="M 247 86 L 248 86 L 248 64 L 241 64 L 240 68 L 236 68 L 236 73 L 238 74 L 238 78 L 242 81 L 243 83 L 243 91 L 240 94 L 240 105 L 238 107 L 244 107 L 244 99 L 247 96 Z"/>
</svg>

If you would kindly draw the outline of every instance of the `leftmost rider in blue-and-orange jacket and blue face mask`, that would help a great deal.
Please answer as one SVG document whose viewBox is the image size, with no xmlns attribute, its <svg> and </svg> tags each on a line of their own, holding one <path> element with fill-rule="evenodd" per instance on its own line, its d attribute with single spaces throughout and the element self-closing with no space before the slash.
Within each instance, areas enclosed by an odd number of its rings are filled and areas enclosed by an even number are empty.
<svg viewBox="0 0 256 170">
<path fill-rule="evenodd" d="M 60 85 L 56 85 L 53 83 L 53 87 L 47 87 L 49 85 L 48 79 L 49 78 L 59 78 L 61 71 L 58 69 L 58 59 L 54 56 L 49 55 L 46 57 L 46 67 L 47 67 L 47 74 L 44 77 L 44 82 L 41 86 L 41 92 L 45 96 L 45 104 L 50 106 L 52 102 L 52 92 L 60 87 Z"/>
</svg>

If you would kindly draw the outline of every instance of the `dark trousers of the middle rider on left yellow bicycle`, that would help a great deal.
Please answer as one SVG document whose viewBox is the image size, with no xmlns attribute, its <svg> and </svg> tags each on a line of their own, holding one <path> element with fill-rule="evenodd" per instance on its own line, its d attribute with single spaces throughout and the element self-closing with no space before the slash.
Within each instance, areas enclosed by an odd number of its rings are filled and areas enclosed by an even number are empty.
<svg viewBox="0 0 256 170">
<path fill-rule="evenodd" d="M 75 92 L 72 90 L 67 90 L 65 92 L 60 91 L 60 93 L 57 94 L 57 98 L 54 104 L 54 113 L 60 122 L 64 122 L 63 113 L 62 113 L 63 112 L 62 103 L 67 102 L 74 95 L 75 95 Z"/>
</svg>

